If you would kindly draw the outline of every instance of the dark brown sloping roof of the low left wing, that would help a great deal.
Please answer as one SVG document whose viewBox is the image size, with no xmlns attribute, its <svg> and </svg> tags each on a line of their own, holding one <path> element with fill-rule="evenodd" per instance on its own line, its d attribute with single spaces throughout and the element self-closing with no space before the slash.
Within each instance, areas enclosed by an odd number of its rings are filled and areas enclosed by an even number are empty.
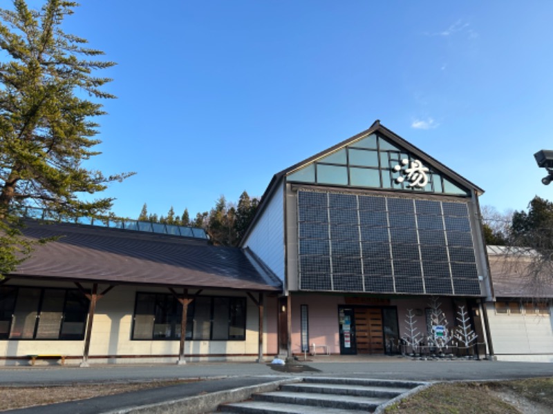
<svg viewBox="0 0 553 414">
<path fill-rule="evenodd" d="M 117 228 L 79 224 L 28 223 L 26 236 L 61 236 L 35 248 L 14 276 L 280 291 L 281 282 L 265 273 L 238 248 Z"/>
</svg>

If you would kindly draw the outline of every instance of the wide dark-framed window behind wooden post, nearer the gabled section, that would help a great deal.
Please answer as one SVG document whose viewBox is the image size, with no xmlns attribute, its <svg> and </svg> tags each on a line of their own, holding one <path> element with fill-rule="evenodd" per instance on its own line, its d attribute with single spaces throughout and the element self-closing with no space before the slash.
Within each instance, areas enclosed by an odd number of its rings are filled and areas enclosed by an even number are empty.
<svg viewBox="0 0 553 414">
<path fill-rule="evenodd" d="M 182 305 L 171 294 L 137 293 L 131 339 L 180 339 Z M 186 339 L 245 340 L 244 297 L 199 296 L 188 305 Z"/>
</svg>

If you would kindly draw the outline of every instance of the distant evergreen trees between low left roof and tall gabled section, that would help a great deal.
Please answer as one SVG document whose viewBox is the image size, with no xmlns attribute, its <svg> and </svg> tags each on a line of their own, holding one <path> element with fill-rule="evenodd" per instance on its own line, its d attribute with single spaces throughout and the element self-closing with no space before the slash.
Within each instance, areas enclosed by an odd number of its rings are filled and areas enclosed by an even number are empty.
<svg viewBox="0 0 553 414">
<path fill-rule="evenodd" d="M 259 199 L 250 197 L 247 191 L 240 195 L 237 203 L 229 202 L 221 195 L 211 210 L 197 213 L 191 219 L 188 208 L 178 215 L 171 206 L 167 215 L 158 215 L 149 213 L 148 206 L 144 203 L 138 220 L 203 228 L 216 246 L 237 246 L 252 222 L 258 205 Z"/>
</svg>

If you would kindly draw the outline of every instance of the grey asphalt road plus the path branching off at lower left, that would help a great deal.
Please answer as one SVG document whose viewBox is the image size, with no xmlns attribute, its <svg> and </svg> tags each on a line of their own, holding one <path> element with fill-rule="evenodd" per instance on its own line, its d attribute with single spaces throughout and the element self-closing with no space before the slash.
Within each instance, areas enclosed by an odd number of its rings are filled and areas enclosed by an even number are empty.
<svg viewBox="0 0 553 414">
<path fill-rule="evenodd" d="M 200 379 L 203 381 L 153 388 L 137 392 L 95 397 L 24 408 L 9 413 L 102 413 L 129 406 L 156 404 L 216 391 L 263 384 L 274 380 L 306 377 L 360 377 L 385 380 L 453 381 L 508 380 L 525 377 L 553 377 L 552 363 L 491 362 L 487 360 L 419 361 L 399 357 L 315 357 L 297 362 L 294 369 L 254 362 L 203 362 L 185 365 L 93 365 L 17 366 L 0 368 L 0 385 L 106 384 L 150 380 Z M 302 368 L 302 366 L 304 368 Z"/>
</svg>

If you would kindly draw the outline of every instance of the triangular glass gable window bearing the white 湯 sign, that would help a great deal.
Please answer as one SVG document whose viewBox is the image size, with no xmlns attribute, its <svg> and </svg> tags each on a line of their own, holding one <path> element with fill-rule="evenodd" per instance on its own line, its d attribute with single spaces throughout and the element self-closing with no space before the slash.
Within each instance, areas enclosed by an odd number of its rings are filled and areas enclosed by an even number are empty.
<svg viewBox="0 0 553 414">
<path fill-rule="evenodd" d="M 292 172 L 290 182 L 470 196 L 384 137 L 371 134 Z"/>
</svg>

